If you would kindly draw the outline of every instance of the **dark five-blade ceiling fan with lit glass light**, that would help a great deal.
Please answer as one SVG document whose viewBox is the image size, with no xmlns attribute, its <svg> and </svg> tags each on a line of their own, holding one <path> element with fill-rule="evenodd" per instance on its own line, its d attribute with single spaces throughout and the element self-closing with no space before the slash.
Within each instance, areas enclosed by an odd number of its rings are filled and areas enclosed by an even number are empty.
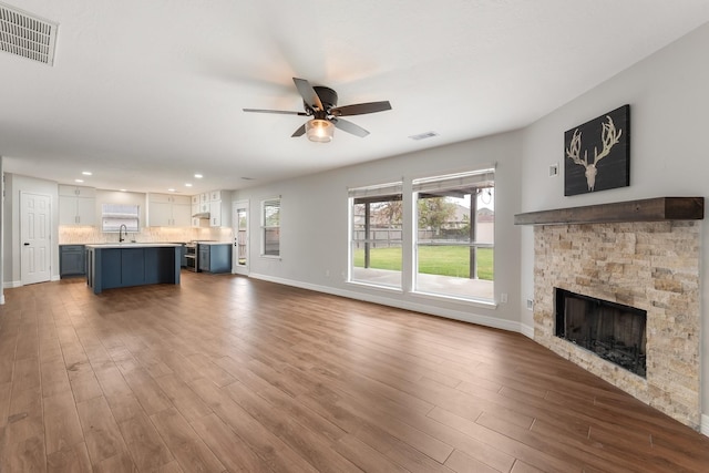
<svg viewBox="0 0 709 473">
<path fill-rule="evenodd" d="M 342 120 L 341 116 L 363 115 L 367 113 L 383 112 L 391 110 L 389 101 L 357 103 L 353 105 L 337 106 L 337 92 L 330 88 L 322 85 L 310 85 L 305 79 L 292 78 L 298 89 L 298 93 L 302 96 L 305 112 L 290 112 L 286 110 L 264 110 L 264 109 L 243 109 L 244 112 L 255 113 L 279 113 L 284 115 L 312 116 L 295 133 L 292 137 L 308 136 L 308 140 L 319 143 L 328 143 L 332 141 L 335 128 L 351 133 L 359 137 L 364 137 L 369 132 L 352 122 Z"/>
</svg>

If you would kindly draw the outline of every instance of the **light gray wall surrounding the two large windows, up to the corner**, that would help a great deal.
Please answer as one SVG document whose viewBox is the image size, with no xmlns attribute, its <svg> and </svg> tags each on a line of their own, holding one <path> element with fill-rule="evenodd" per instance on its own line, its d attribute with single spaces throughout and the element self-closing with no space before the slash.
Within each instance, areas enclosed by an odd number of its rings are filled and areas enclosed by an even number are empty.
<svg viewBox="0 0 709 473">
<path fill-rule="evenodd" d="M 356 145 L 356 144 L 354 144 Z M 322 146 L 312 144 L 312 146 Z M 520 133 L 506 133 L 450 146 L 394 156 L 235 193 L 250 200 L 250 274 L 269 280 L 420 310 L 493 327 L 520 331 L 520 228 L 513 214 L 520 202 Z M 336 155 L 332 158 L 337 158 Z M 411 179 L 470 171 L 496 163 L 495 174 L 495 295 L 508 294 L 508 304 L 496 308 L 423 298 L 347 284 L 348 187 L 403 178 L 404 208 L 411 218 Z M 281 259 L 259 256 L 260 200 L 280 195 Z M 412 229 L 404 228 L 404 243 Z M 405 247 L 405 245 L 404 245 Z M 403 267 L 412 265 L 404 253 Z M 329 275 L 329 276 L 328 276 Z"/>
</svg>

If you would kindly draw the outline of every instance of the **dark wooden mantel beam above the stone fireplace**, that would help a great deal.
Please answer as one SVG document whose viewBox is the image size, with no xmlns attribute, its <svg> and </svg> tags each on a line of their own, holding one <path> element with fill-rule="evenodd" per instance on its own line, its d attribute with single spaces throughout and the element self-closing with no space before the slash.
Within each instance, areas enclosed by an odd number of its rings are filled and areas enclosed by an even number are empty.
<svg viewBox="0 0 709 473">
<path fill-rule="evenodd" d="M 620 222 L 701 220 L 703 197 L 656 197 L 584 207 L 528 212 L 514 216 L 515 225 L 605 224 Z"/>
</svg>

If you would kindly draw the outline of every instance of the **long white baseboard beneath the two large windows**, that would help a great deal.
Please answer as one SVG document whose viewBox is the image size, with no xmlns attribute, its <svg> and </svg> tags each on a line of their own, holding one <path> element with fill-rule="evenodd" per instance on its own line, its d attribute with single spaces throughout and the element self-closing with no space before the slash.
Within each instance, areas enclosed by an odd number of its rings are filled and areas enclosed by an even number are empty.
<svg viewBox="0 0 709 473">
<path fill-rule="evenodd" d="M 251 273 L 249 277 L 261 279 L 269 282 L 282 284 L 285 286 L 299 287 L 301 289 L 315 290 L 318 292 L 331 294 L 333 296 L 347 297 L 349 299 L 363 300 L 366 302 L 381 304 L 382 306 L 395 307 L 398 309 L 412 310 L 414 312 L 428 313 L 431 316 L 445 317 L 448 319 L 461 320 L 464 322 L 476 323 L 480 326 L 491 327 L 501 330 L 514 331 L 523 333 L 523 327 L 520 322 L 496 319 L 494 317 L 482 316 L 479 313 L 463 312 L 461 310 L 445 309 L 442 307 L 428 306 L 407 300 L 392 299 L 372 294 L 363 294 L 347 289 L 338 289 L 329 286 L 312 285 L 309 282 L 296 281 L 291 279 L 282 279 L 267 275 Z"/>
</svg>

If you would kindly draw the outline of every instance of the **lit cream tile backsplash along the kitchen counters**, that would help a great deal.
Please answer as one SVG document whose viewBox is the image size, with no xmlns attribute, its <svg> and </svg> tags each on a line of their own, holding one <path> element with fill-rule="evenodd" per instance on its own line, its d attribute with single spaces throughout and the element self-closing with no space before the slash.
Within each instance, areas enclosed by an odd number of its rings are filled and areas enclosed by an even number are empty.
<svg viewBox="0 0 709 473">
<path fill-rule="evenodd" d="M 182 243 L 193 240 L 232 241 L 232 228 L 144 227 L 131 232 L 127 240 L 137 243 Z M 117 243 L 119 234 L 103 233 L 99 227 L 59 226 L 60 245 Z"/>
</svg>

